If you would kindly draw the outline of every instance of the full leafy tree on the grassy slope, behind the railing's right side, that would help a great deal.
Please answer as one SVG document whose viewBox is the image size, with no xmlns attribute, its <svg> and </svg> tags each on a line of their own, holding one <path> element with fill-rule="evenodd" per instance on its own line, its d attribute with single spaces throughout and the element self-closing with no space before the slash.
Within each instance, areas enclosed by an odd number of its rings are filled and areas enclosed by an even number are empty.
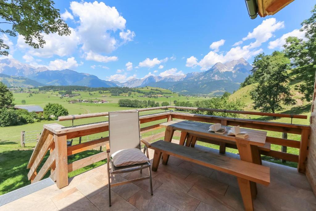
<svg viewBox="0 0 316 211">
<path fill-rule="evenodd" d="M 289 87 L 286 86 L 289 78 L 287 73 L 289 64 L 290 60 L 279 51 L 271 55 L 261 53 L 254 58 L 251 71 L 254 80 L 258 82 L 258 85 L 250 92 L 254 109 L 275 113 L 283 109 L 282 104 L 295 103 Z"/>
</svg>

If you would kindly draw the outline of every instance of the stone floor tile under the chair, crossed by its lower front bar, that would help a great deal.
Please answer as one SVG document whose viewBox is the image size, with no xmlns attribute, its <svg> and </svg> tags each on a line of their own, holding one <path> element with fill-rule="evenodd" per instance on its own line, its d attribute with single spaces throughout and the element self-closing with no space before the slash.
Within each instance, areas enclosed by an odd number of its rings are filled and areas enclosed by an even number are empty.
<svg viewBox="0 0 316 211">
<path fill-rule="evenodd" d="M 114 174 L 111 176 L 111 184 L 113 183 L 119 183 L 127 181 L 124 177 L 121 177 L 117 174 Z M 113 190 L 115 193 L 119 194 L 121 197 L 123 197 L 125 200 L 130 198 L 132 195 L 137 193 L 140 190 L 140 187 L 133 183 L 127 183 L 124 185 L 119 185 L 115 187 L 111 187 L 111 190 Z"/>
</svg>

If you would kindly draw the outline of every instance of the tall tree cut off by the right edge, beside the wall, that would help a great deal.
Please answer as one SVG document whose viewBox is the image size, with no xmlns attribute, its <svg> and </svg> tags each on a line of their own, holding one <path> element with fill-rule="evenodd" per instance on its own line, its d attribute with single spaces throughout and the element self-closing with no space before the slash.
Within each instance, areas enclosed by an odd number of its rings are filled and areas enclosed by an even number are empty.
<svg viewBox="0 0 316 211">
<path fill-rule="evenodd" d="M 301 31 L 305 31 L 306 40 L 288 37 L 284 47 L 285 55 L 292 60 L 296 79 L 302 81 L 296 90 L 304 94 L 306 100 L 312 99 L 316 69 L 316 5 L 312 16 L 301 23 Z"/>
</svg>

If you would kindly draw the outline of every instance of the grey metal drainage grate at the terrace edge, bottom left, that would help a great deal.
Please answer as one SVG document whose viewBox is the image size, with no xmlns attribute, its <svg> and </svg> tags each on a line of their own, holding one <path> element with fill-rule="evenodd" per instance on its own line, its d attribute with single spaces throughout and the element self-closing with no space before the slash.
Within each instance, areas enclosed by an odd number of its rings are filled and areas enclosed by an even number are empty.
<svg viewBox="0 0 316 211">
<path fill-rule="evenodd" d="M 43 179 L 39 182 L 27 185 L 25 187 L 13 190 L 9 193 L 0 195 L 0 207 L 8 204 L 10 202 L 13 202 L 17 199 L 20 199 L 26 195 L 30 195 L 31 193 L 34 193 L 36 191 L 39 191 L 41 189 L 47 188 L 48 186 L 51 186 L 55 184 L 54 181 L 50 177 Z"/>
</svg>

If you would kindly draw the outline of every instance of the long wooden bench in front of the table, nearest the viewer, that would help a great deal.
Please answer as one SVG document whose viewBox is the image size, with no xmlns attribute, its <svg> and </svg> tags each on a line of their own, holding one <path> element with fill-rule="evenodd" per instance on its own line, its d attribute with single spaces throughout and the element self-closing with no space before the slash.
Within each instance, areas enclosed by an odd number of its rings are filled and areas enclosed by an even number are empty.
<svg viewBox="0 0 316 211">
<path fill-rule="evenodd" d="M 158 140 L 152 143 L 149 148 L 155 150 L 152 171 L 157 171 L 161 155 L 164 153 L 168 156 L 172 155 L 182 160 L 236 176 L 246 210 L 253 210 L 252 200 L 255 199 L 257 194 L 256 186 L 252 184 L 260 183 L 266 186 L 270 184 L 270 168 L 266 166 L 213 154 L 164 140 Z"/>
</svg>

